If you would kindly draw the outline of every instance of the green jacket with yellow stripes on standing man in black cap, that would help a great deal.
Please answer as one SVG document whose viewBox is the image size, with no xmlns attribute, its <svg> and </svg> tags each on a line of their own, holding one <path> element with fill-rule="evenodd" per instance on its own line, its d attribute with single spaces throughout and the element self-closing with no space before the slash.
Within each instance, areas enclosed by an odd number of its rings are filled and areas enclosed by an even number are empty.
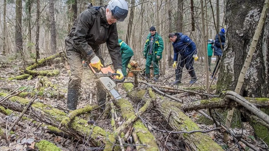
<svg viewBox="0 0 269 151">
<path fill-rule="evenodd" d="M 150 49 L 150 38 L 151 38 L 151 33 L 149 33 L 147 39 L 146 39 L 146 44 L 144 47 L 143 53 L 145 53 L 145 57 L 148 56 L 149 54 L 149 49 Z M 153 55 L 155 61 L 159 61 L 162 58 L 162 53 L 163 53 L 163 38 L 156 32 L 153 38 Z M 157 59 L 157 56 L 160 56 L 159 59 Z"/>
</svg>

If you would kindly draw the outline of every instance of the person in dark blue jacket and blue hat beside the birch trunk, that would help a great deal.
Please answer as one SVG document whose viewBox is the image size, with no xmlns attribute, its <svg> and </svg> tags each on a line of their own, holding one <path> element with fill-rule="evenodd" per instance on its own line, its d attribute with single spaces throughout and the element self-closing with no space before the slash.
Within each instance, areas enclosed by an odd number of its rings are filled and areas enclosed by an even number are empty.
<svg viewBox="0 0 269 151">
<path fill-rule="evenodd" d="M 218 37 L 218 35 L 220 38 Z M 210 77 L 211 79 L 213 79 L 215 72 L 217 72 L 216 69 L 217 69 L 219 60 L 222 56 L 222 50 L 224 49 L 224 43 L 225 43 L 225 29 L 222 28 L 221 31 L 215 37 L 214 46 L 211 46 L 212 48 L 214 48 L 214 55 L 218 57 L 217 64 L 213 70 L 211 77 Z M 214 80 L 217 80 L 217 78 L 214 77 Z"/>
</svg>

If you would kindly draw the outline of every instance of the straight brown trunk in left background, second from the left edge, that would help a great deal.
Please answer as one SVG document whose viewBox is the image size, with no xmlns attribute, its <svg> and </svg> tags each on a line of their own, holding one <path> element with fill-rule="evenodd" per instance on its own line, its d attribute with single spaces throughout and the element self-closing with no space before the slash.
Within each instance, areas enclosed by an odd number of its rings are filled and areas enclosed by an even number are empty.
<svg viewBox="0 0 269 151">
<path fill-rule="evenodd" d="M 16 25 L 15 25 L 16 53 L 23 54 L 22 40 L 22 0 L 16 0 Z M 24 58 L 24 57 L 23 57 Z"/>
</svg>

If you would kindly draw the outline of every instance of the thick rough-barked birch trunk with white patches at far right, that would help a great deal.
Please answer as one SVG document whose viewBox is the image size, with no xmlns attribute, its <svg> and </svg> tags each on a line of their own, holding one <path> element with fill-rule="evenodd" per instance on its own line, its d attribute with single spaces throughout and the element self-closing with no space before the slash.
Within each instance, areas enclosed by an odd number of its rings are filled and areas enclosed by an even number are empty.
<svg viewBox="0 0 269 151">
<path fill-rule="evenodd" d="M 247 52 L 257 28 L 265 0 L 235 3 L 226 1 L 226 42 L 221 58 L 217 91 L 235 90 Z M 245 9 L 241 9 L 245 8 Z M 269 97 L 268 43 L 269 14 L 259 35 L 256 50 L 244 76 L 240 95 L 249 97 Z"/>
</svg>

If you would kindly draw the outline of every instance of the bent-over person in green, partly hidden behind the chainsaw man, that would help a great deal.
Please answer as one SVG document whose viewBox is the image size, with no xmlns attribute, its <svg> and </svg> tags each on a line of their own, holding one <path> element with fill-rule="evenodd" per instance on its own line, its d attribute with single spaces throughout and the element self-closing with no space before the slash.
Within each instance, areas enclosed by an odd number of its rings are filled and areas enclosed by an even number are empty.
<svg viewBox="0 0 269 151">
<path fill-rule="evenodd" d="M 134 56 L 133 50 L 121 39 L 118 39 L 119 44 L 120 44 L 120 53 L 121 53 L 121 59 L 122 59 L 122 73 L 123 76 L 126 77 L 127 72 L 126 68 L 132 58 Z"/>
</svg>

